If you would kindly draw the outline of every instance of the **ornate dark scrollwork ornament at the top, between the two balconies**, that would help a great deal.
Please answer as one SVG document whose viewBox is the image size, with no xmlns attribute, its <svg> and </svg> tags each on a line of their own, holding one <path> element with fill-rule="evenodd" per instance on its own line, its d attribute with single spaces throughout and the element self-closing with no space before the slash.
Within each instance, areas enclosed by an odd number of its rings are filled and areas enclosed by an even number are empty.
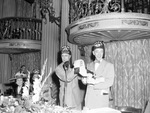
<svg viewBox="0 0 150 113">
<path fill-rule="evenodd" d="M 60 17 L 55 16 L 55 9 L 53 7 L 53 0 L 38 0 L 40 4 L 40 12 L 42 19 L 47 23 L 46 14 L 48 13 L 49 22 L 55 23 L 60 27 Z"/>
</svg>

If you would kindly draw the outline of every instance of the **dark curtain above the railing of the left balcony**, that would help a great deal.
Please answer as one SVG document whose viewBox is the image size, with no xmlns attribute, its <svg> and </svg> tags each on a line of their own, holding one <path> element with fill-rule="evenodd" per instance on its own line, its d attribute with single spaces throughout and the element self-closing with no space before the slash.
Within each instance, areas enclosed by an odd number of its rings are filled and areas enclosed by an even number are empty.
<svg viewBox="0 0 150 113">
<path fill-rule="evenodd" d="M 0 18 L 3 17 L 41 18 L 40 4 L 38 0 L 33 4 L 25 0 L 0 0 Z"/>
</svg>

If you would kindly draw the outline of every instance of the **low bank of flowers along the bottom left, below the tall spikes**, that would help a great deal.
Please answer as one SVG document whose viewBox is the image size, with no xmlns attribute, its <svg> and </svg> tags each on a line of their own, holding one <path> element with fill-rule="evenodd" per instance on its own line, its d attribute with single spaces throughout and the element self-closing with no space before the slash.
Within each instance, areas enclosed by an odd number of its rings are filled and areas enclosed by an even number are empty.
<svg viewBox="0 0 150 113">
<path fill-rule="evenodd" d="M 29 98 L 22 100 L 12 96 L 1 96 L 0 106 L 0 113 L 81 113 L 76 110 L 51 105 L 49 102 L 39 101 L 33 104 Z"/>
</svg>

